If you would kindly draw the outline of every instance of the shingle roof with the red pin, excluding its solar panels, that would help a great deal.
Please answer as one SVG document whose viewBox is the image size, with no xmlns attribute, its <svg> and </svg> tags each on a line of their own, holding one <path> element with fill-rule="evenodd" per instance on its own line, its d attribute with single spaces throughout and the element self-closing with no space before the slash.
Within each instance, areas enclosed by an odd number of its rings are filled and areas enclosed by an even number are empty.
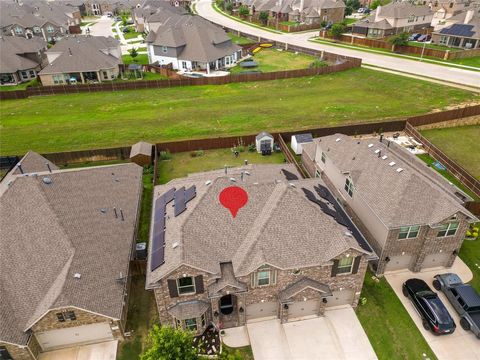
<svg viewBox="0 0 480 360">
<path fill-rule="evenodd" d="M 313 190 L 320 179 L 290 181 L 294 187 L 285 180 L 284 169 L 297 173 L 293 165 L 249 165 L 231 169 L 226 176 L 223 170 L 208 172 L 156 187 L 155 198 L 173 187 L 192 185 L 197 195 L 177 217 L 167 206 L 165 263 L 147 271 L 147 286 L 182 264 L 220 277 L 221 263 L 231 262 L 235 276 L 244 276 L 262 264 L 299 268 L 324 264 L 349 249 L 369 253 L 347 227 L 307 200 L 303 189 Z M 245 171 L 249 175 L 241 181 Z M 237 181 L 232 183 L 230 177 Z M 248 194 L 235 218 L 218 200 L 231 185 Z M 179 246 L 173 248 L 174 242 Z"/>
</svg>

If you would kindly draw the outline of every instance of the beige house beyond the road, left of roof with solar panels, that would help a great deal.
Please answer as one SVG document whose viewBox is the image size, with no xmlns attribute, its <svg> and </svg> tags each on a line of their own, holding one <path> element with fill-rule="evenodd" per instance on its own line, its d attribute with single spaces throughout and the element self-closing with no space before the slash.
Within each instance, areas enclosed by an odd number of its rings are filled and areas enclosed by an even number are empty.
<svg viewBox="0 0 480 360">
<path fill-rule="evenodd" d="M 353 24 L 352 32 L 372 38 L 382 38 L 402 32 L 425 32 L 433 19 L 433 11 L 426 5 L 407 1 L 378 6 L 372 15 Z"/>
</svg>

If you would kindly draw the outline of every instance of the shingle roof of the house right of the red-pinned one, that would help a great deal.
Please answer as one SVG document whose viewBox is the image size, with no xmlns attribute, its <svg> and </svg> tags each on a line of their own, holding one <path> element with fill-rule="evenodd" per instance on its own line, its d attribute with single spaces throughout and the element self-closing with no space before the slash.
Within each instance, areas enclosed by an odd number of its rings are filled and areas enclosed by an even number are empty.
<svg viewBox="0 0 480 360">
<path fill-rule="evenodd" d="M 434 225 L 457 212 L 475 219 L 455 196 L 456 187 L 393 142 L 387 146 L 387 140 L 335 134 L 315 139 L 314 143 L 338 171 L 351 177 L 354 196 L 361 197 L 388 228 Z M 317 150 L 317 156 L 319 153 Z M 392 162 L 394 165 L 389 166 Z M 399 168 L 403 170 L 398 172 Z"/>
</svg>

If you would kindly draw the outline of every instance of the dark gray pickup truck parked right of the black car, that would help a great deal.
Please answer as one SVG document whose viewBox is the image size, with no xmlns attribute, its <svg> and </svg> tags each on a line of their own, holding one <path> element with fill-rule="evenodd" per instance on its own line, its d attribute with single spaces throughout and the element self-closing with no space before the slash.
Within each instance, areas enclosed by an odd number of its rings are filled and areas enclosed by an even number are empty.
<svg viewBox="0 0 480 360">
<path fill-rule="evenodd" d="M 480 339 L 480 295 L 457 274 L 435 275 L 433 287 L 445 294 L 460 315 L 463 330 L 472 331 Z"/>
</svg>

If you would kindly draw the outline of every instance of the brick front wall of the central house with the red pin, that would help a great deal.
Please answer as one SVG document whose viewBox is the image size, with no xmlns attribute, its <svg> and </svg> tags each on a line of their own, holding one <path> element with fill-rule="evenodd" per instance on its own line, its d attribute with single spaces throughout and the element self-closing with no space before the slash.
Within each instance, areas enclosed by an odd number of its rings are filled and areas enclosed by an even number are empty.
<svg viewBox="0 0 480 360">
<path fill-rule="evenodd" d="M 356 306 L 360 297 L 360 292 L 363 285 L 363 279 L 365 276 L 365 271 L 367 269 L 367 260 L 366 256 L 362 255 L 356 250 L 349 250 L 335 259 L 340 259 L 344 256 L 352 256 L 353 258 L 361 256 L 358 271 L 356 274 L 339 274 L 336 276 L 331 276 L 333 260 L 330 263 L 320 265 L 320 266 L 311 266 L 301 269 L 298 271 L 293 270 L 276 270 L 276 282 L 275 284 L 261 287 L 252 287 L 252 274 L 246 276 L 237 277 L 237 280 L 247 285 L 246 292 L 238 292 L 236 288 L 226 287 L 222 289 L 215 297 L 210 298 L 208 296 L 208 286 L 215 282 L 215 276 L 188 266 L 181 266 L 176 271 L 169 274 L 168 277 L 162 279 L 159 283 L 159 286 L 154 289 L 155 299 L 157 302 L 157 309 L 159 314 L 160 322 L 163 325 L 175 326 L 175 319 L 167 312 L 168 308 L 171 308 L 175 304 L 184 301 L 191 300 L 202 300 L 210 304 L 210 308 L 207 310 L 206 324 L 213 321 L 217 325 L 221 324 L 221 327 L 232 327 L 232 326 L 241 326 L 246 322 L 246 308 L 251 304 L 266 303 L 266 302 L 277 302 L 278 311 L 277 316 L 283 321 L 288 321 L 288 310 L 284 309 L 279 302 L 279 294 L 282 290 L 289 287 L 290 285 L 296 283 L 302 278 L 309 278 L 316 280 L 324 285 L 330 287 L 331 291 L 339 290 L 352 290 L 353 299 L 350 305 Z M 167 285 L 167 280 L 176 280 L 178 278 L 186 276 L 203 276 L 204 288 L 203 293 L 194 293 L 187 295 L 179 295 L 177 297 L 171 297 Z M 219 309 L 219 300 L 222 296 L 227 294 L 234 294 L 234 311 L 230 315 L 223 315 Z M 306 288 L 300 291 L 300 293 L 293 296 L 290 301 L 306 301 L 306 300 L 315 300 L 321 299 L 321 293 L 316 290 Z M 328 301 L 328 299 L 327 299 Z M 325 303 L 320 301 L 320 309 L 318 315 L 322 315 L 325 307 Z M 204 327 L 201 326 L 201 318 L 197 318 L 197 332 L 201 333 L 204 330 Z"/>
</svg>

